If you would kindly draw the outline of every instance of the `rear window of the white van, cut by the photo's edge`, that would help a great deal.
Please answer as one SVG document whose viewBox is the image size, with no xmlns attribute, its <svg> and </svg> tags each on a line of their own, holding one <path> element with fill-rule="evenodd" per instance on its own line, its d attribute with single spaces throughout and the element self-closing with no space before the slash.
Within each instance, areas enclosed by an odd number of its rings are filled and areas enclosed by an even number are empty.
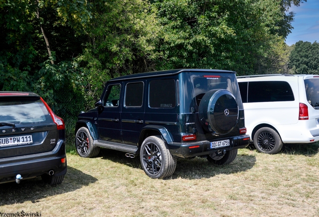
<svg viewBox="0 0 319 217">
<path fill-rule="evenodd" d="M 312 78 L 304 80 L 307 101 L 315 109 L 319 109 L 319 79 Z"/>
</svg>

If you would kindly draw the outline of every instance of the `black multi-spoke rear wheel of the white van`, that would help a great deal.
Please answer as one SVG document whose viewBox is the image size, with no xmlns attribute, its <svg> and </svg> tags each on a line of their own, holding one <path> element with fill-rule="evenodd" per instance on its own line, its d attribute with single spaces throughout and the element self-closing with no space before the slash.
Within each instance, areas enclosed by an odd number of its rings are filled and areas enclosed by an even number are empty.
<svg viewBox="0 0 319 217">
<path fill-rule="evenodd" d="M 282 149 L 283 143 L 275 130 L 263 127 L 255 133 L 254 145 L 259 152 L 276 154 Z"/>
</svg>

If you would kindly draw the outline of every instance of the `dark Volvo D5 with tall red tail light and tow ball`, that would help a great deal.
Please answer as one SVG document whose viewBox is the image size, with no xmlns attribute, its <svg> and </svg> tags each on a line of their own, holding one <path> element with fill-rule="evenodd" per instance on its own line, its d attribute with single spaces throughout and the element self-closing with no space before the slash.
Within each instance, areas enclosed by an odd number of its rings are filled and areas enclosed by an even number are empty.
<svg viewBox="0 0 319 217">
<path fill-rule="evenodd" d="M 0 183 L 60 184 L 66 171 L 63 120 L 35 93 L 0 91 Z"/>
</svg>

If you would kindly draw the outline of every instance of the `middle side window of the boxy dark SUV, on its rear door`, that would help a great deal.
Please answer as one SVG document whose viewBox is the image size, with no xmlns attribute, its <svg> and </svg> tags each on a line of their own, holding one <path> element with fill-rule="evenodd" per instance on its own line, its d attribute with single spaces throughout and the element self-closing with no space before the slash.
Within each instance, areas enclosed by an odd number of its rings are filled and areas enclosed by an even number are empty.
<svg viewBox="0 0 319 217">
<path fill-rule="evenodd" d="M 127 83 L 125 88 L 125 107 L 141 107 L 143 104 L 143 82 Z"/>
</svg>

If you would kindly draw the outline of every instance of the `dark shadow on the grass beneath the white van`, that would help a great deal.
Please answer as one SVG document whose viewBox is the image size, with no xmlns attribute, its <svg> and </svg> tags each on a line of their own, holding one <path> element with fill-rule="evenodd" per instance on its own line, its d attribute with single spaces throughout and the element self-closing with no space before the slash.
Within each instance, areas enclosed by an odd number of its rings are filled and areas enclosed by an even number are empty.
<svg viewBox="0 0 319 217">
<path fill-rule="evenodd" d="M 256 150 L 254 144 L 249 144 L 247 149 Z M 287 155 L 303 155 L 303 156 L 313 156 L 319 153 L 319 142 L 311 144 L 284 144 L 283 148 L 278 154 Z"/>
</svg>

